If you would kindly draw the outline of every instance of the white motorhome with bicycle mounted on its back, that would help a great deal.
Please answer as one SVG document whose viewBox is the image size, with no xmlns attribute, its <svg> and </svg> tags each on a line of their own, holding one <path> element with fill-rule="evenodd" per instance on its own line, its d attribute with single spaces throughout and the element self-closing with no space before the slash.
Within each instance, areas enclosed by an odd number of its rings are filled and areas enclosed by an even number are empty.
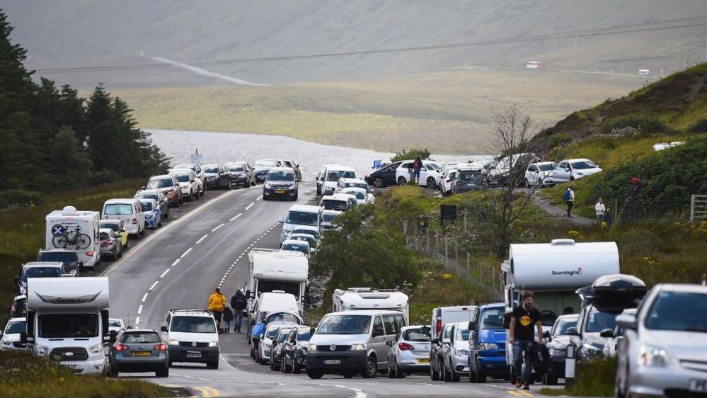
<svg viewBox="0 0 707 398">
<path fill-rule="evenodd" d="M 54 210 L 47 217 L 45 249 L 76 250 L 79 267 L 94 270 L 100 261 L 99 212 L 79 211 L 74 206 Z"/>
</svg>

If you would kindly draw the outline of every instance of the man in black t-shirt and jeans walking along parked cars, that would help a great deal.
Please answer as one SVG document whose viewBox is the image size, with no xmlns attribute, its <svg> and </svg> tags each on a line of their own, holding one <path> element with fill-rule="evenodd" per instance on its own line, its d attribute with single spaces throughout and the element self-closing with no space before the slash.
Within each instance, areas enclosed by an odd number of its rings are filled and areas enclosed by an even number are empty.
<svg viewBox="0 0 707 398">
<path fill-rule="evenodd" d="M 513 346 L 513 369 L 515 370 L 515 386 L 529 390 L 532 377 L 530 348 L 534 340 L 534 327 L 538 329 L 538 343 L 543 344 L 543 325 L 540 322 L 540 312 L 534 307 L 533 292 L 523 292 L 523 302 L 513 309 L 511 316 L 509 340 Z M 525 353 L 525 371 L 521 378 L 521 365 Z"/>
</svg>

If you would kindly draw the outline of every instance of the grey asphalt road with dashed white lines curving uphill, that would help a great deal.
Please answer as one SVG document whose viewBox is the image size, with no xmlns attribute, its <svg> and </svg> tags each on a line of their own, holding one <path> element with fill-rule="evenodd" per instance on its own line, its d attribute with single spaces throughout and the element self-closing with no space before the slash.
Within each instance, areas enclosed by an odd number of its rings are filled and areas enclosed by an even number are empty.
<svg viewBox="0 0 707 398">
<path fill-rule="evenodd" d="M 248 249 L 279 246 L 277 221 L 292 202 L 263 201 L 262 186 L 215 194 L 192 203 L 192 211 L 173 217 L 156 232 L 132 241 L 120 261 L 99 268 L 110 279 L 111 317 L 159 329 L 169 308 L 206 307 L 217 286 L 227 297 L 241 288 L 248 273 Z M 297 203 L 308 203 L 313 196 L 314 185 L 301 184 Z M 469 384 L 464 378 L 459 383 L 432 382 L 426 375 L 374 380 L 326 375 L 310 380 L 306 374 L 285 375 L 253 362 L 244 333 L 222 334 L 220 346 L 218 370 L 176 363 L 166 378 L 152 373 L 121 377 L 184 387 L 200 397 L 529 397 L 539 388 L 524 392 L 500 380 L 485 385 Z"/>
</svg>

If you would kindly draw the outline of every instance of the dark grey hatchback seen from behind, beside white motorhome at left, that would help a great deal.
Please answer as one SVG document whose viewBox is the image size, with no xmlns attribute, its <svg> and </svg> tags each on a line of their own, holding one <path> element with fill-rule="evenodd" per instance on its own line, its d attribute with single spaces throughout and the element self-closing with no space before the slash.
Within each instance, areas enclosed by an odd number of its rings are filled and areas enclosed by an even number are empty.
<svg viewBox="0 0 707 398">
<path fill-rule="evenodd" d="M 154 372 L 157 377 L 168 377 L 167 345 L 154 329 L 128 329 L 113 336 L 108 377 L 117 377 L 120 372 Z"/>
</svg>

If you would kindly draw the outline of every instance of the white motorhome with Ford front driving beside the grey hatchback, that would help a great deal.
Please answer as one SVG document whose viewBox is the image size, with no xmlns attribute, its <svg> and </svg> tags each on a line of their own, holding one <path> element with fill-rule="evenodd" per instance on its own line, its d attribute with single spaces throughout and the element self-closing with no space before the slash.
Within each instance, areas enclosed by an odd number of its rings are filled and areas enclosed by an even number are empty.
<svg viewBox="0 0 707 398">
<path fill-rule="evenodd" d="M 109 334 L 108 278 L 29 278 L 23 339 L 35 355 L 101 374 Z"/>
</svg>

